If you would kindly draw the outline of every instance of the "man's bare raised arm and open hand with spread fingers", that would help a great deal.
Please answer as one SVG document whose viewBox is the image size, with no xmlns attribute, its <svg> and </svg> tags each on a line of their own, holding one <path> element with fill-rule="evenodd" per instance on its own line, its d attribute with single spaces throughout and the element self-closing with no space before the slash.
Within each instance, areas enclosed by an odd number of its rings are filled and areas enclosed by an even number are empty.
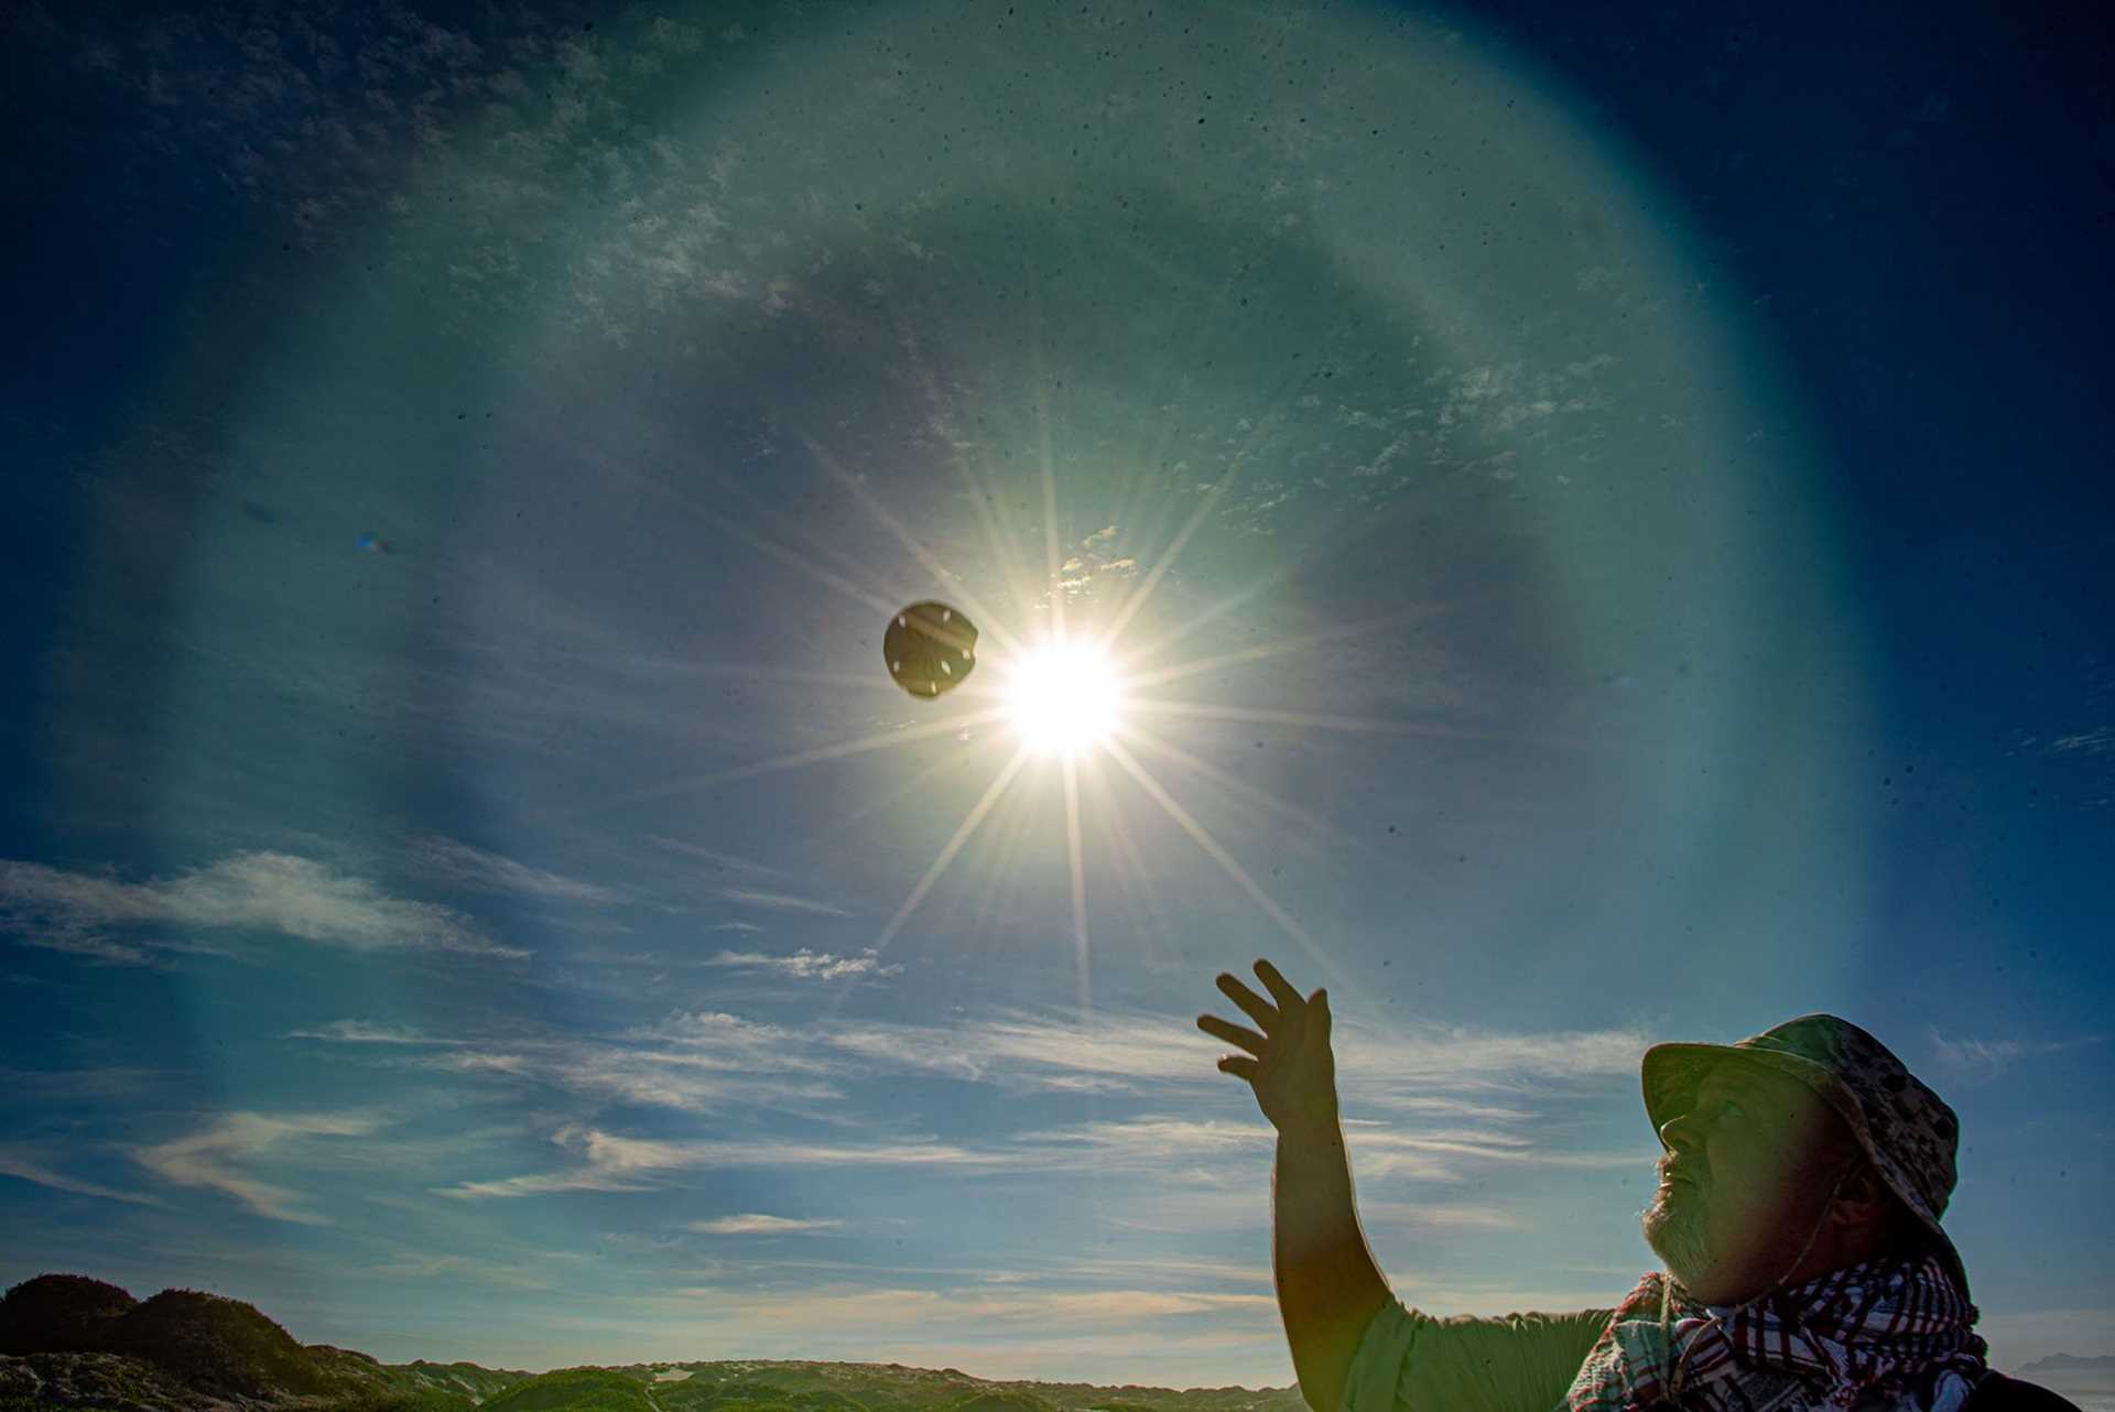
<svg viewBox="0 0 2115 1412">
<path fill-rule="evenodd" d="M 1197 1027 L 1248 1051 L 1222 1057 L 1218 1067 L 1254 1089 L 1256 1106 L 1277 1129 L 1271 1186 L 1277 1313 L 1301 1397 L 1313 1412 L 1337 1412 L 1360 1334 L 1390 1300 L 1387 1281 L 1366 1249 L 1351 1199 L 1328 993 L 1318 989 L 1303 1000 L 1265 960 L 1256 962 L 1256 979 L 1269 998 L 1233 974 L 1218 977 L 1218 989 L 1256 1029 L 1216 1015 L 1199 1015 Z"/>
</svg>

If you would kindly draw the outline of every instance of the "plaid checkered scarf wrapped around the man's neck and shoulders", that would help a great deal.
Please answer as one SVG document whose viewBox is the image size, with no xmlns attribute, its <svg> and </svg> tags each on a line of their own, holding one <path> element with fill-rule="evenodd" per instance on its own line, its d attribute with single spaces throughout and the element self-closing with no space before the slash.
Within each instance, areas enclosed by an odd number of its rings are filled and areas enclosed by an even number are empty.
<svg viewBox="0 0 2115 1412">
<path fill-rule="evenodd" d="M 1868 1262 L 1739 1306 L 1654 1272 L 1624 1296 L 1557 1412 L 1958 1412 L 1984 1374 L 1944 1264 Z"/>
</svg>

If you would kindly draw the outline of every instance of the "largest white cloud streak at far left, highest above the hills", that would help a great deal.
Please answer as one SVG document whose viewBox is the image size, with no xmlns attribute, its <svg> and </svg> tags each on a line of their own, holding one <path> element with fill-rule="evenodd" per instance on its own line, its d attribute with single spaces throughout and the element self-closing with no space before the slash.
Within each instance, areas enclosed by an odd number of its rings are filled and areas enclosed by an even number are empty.
<svg viewBox="0 0 2115 1412">
<path fill-rule="evenodd" d="M 154 924 L 266 930 L 351 951 L 529 955 L 495 943 L 448 907 L 389 896 L 366 879 L 292 854 L 231 854 L 209 867 L 144 884 L 40 862 L 0 862 L 0 926 L 15 934 L 51 926 L 99 934 L 102 928 Z"/>
</svg>

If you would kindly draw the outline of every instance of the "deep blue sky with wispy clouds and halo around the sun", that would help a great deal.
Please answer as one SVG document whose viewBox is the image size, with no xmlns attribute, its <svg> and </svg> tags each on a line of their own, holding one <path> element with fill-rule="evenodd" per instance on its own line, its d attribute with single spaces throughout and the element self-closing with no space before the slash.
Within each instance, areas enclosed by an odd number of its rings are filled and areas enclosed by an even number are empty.
<svg viewBox="0 0 2115 1412">
<path fill-rule="evenodd" d="M 2115 1353 L 2100 40 L 1019 11 L 8 13 L 0 1277 L 1286 1385 L 1267 953 L 1421 1308 L 1834 1010 Z"/>
</svg>

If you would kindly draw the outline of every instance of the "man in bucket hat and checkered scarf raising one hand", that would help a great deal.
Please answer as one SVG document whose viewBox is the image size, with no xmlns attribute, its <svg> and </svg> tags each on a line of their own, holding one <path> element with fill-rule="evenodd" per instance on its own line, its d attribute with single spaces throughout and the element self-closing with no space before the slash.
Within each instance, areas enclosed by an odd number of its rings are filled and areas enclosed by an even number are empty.
<svg viewBox="0 0 2115 1412">
<path fill-rule="evenodd" d="M 1988 1372 L 1939 1213 L 1958 1125 L 1876 1038 L 1806 1015 L 1736 1044 L 1654 1044 L 1645 1112 L 1667 1270 L 1618 1306 L 1432 1319 L 1381 1279 L 1337 1118 L 1328 993 L 1269 962 L 1218 989 L 1254 1029 L 1197 1027 L 1277 1129 L 1273 1270 L 1316 1412 L 1961 1412 Z M 2068 1408 L 1990 1378 L 1975 1412 Z M 2075 1412 L 2075 1410 L 2073 1410 Z"/>
</svg>

